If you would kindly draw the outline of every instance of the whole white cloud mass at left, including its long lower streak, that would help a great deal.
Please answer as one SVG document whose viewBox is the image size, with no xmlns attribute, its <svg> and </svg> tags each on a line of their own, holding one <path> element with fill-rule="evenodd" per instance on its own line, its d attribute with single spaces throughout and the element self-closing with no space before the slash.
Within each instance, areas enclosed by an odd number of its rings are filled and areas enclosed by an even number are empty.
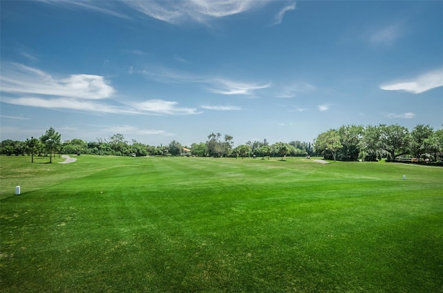
<svg viewBox="0 0 443 293">
<path fill-rule="evenodd" d="M 139 115 L 199 114 L 196 108 L 181 108 L 177 102 L 145 100 L 116 103 L 114 88 L 100 75 L 53 77 L 22 64 L 2 64 L 1 102 L 58 110 Z"/>
</svg>

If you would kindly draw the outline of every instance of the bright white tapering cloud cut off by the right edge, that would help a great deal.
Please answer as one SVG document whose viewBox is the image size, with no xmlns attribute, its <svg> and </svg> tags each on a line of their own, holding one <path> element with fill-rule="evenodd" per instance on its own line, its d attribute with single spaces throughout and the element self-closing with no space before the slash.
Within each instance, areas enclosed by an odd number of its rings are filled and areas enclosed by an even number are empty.
<svg viewBox="0 0 443 293">
<path fill-rule="evenodd" d="M 419 75 L 414 79 L 401 82 L 389 82 L 380 86 L 385 91 L 407 91 L 409 93 L 424 93 L 433 88 L 443 86 L 443 68 Z"/>
</svg>

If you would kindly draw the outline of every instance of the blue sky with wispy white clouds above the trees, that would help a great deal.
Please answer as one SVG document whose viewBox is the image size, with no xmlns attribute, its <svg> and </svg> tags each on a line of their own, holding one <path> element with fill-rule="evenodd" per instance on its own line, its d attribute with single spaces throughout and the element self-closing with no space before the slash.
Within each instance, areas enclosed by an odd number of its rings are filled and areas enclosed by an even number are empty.
<svg viewBox="0 0 443 293">
<path fill-rule="evenodd" d="M 1 1 L 0 140 L 443 123 L 443 1 Z"/>
</svg>

